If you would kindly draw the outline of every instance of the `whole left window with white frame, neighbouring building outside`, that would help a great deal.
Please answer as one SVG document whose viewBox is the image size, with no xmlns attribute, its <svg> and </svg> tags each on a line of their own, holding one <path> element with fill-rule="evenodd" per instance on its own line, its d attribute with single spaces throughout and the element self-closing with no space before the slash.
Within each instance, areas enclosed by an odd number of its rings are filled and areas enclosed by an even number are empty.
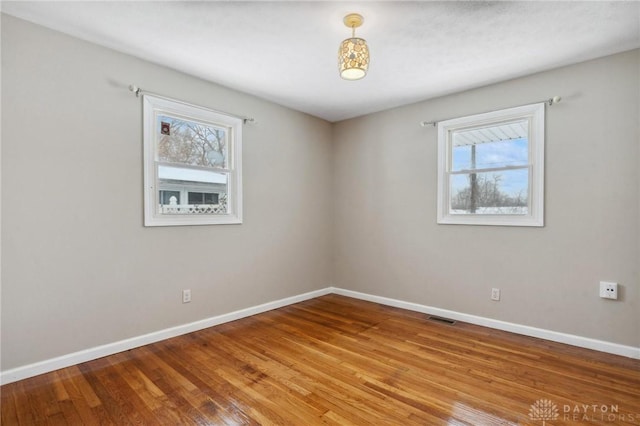
<svg viewBox="0 0 640 426">
<path fill-rule="evenodd" d="M 242 223 L 242 119 L 144 95 L 145 226 Z"/>
</svg>

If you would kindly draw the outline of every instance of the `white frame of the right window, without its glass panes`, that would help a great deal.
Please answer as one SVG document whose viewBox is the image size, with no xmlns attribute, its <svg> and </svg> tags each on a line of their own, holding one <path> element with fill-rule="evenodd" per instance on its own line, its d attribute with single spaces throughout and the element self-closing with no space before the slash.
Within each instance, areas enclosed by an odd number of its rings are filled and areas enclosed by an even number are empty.
<svg viewBox="0 0 640 426">
<path fill-rule="evenodd" d="M 529 122 L 528 214 L 452 214 L 451 173 L 452 133 L 503 122 L 527 119 Z M 494 226 L 544 226 L 544 143 L 545 103 L 536 103 L 482 114 L 454 118 L 437 123 L 438 127 L 438 201 L 437 223 Z"/>
</svg>

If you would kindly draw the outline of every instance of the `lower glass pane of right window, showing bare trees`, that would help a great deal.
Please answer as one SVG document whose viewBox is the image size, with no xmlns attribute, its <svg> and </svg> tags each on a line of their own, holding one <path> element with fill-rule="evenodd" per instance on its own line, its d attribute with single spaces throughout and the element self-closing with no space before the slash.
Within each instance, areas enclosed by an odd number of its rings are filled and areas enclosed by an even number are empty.
<svg viewBox="0 0 640 426">
<path fill-rule="evenodd" d="M 451 214 L 529 214 L 529 169 L 450 176 Z"/>
</svg>

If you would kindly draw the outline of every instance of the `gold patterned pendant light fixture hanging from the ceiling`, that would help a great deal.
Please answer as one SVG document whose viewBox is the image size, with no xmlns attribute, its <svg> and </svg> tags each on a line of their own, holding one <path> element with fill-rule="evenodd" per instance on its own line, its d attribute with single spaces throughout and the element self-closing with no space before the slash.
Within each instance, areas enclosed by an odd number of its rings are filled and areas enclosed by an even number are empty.
<svg viewBox="0 0 640 426">
<path fill-rule="evenodd" d="M 344 24 L 351 28 L 351 37 L 340 43 L 338 49 L 338 68 L 340 77 L 345 80 L 360 80 L 369 69 L 369 47 L 367 41 L 356 37 L 356 28 L 362 25 L 364 18 L 357 13 L 344 17 Z"/>
</svg>

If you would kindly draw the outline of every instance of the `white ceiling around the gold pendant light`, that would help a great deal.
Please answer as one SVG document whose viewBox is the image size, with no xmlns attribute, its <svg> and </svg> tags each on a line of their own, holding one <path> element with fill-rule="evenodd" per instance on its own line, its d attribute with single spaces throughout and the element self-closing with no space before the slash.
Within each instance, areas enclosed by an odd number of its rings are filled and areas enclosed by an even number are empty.
<svg viewBox="0 0 640 426">
<path fill-rule="evenodd" d="M 640 2 L 14 2 L 3 13 L 339 121 L 640 47 Z M 337 71 L 349 12 L 371 65 Z M 131 82 L 143 89 L 144 81 Z"/>
</svg>

